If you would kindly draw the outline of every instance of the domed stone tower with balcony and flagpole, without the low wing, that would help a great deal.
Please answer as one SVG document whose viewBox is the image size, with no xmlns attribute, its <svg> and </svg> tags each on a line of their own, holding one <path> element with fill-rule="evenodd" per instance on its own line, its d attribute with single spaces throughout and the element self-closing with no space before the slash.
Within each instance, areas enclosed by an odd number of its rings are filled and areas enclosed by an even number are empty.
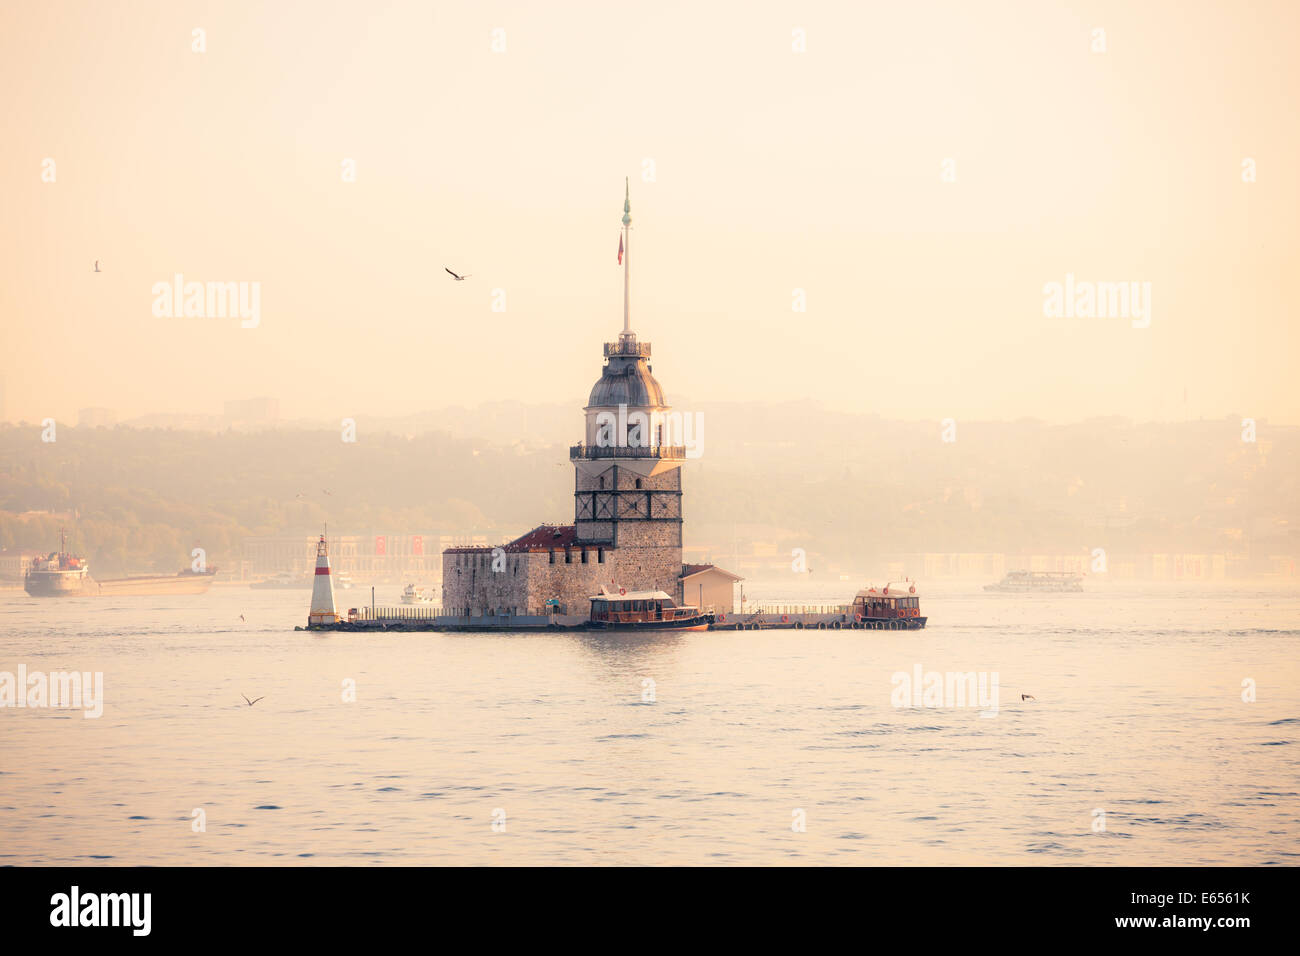
<svg viewBox="0 0 1300 956">
<path fill-rule="evenodd" d="M 650 369 L 650 343 L 638 342 L 629 313 L 632 206 L 623 200 L 623 332 L 604 343 L 604 368 L 584 412 L 575 468 L 573 524 L 578 542 L 618 555 L 623 585 L 677 592 L 681 575 L 681 466 L 686 449 L 663 389 Z"/>
</svg>

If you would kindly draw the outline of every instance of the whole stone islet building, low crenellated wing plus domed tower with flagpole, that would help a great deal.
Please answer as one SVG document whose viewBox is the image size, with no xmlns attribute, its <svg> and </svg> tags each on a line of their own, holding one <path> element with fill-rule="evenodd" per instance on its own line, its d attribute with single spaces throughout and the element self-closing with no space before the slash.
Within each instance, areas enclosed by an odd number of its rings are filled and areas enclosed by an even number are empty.
<svg viewBox="0 0 1300 956">
<path fill-rule="evenodd" d="M 629 198 L 623 200 L 623 332 L 604 343 L 585 434 L 569 449 L 573 523 L 541 524 L 498 548 L 442 553 L 442 606 L 485 614 L 586 614 L 601 588 L 663 591 L 682 602 L 681 466 L 671 411 L 630 319 Z M 731 610 L 728 606 L 725 610 Z"/>
</svg>

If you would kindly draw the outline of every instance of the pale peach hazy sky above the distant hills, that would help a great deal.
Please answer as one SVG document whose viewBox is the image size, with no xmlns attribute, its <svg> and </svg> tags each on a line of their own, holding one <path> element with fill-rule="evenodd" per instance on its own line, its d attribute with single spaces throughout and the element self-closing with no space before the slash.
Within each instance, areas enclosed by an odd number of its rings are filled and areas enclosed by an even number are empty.
<svg viewBox="0 0 1300 956">
<path fill-rule="evenodd" d="M 0 90 L 12 420 L 576 436 L 630 176 L 670 401 L 1300 421 L 1300 4 L 6 3 Z M 156 317 L 176 273 L 260 282 L 260 325 Z M 1150 282 L 1149 328 L 1045 317 L 1067 273 Z"/>
</svg>

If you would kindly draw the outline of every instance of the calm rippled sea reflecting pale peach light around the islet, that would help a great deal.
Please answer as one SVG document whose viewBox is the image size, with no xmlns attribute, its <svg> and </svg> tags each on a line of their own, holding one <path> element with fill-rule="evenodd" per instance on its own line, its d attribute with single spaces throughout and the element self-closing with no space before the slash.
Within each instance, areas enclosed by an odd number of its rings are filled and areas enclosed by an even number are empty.
<svg viewBox="0 0 1300 956">
<path fill-rule="evenodd" d="M 0 709 L 0 864 L 1300 862 L 1295 589 L 935 587 L 913 633 L 295 632 L 307 596 L 0 593 L 0 671 L 104 675 L 99 719 Z M 997 714 L 894 706 L 918 666 Z"/>
</svg>

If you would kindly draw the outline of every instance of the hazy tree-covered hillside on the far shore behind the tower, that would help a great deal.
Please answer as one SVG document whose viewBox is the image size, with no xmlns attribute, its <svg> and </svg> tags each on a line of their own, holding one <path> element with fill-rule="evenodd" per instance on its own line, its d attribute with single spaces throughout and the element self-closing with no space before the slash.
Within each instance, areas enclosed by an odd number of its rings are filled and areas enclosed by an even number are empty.
<svg viewBox="0 0 1300 956">
<path fill-rule="evenodd" d="M 835 564 L 893 551 L 1300 553 L 1300 429 L 1240 419 L 887 421 L 811 403 L 718 405 L 686 466 L 688 545 Z M 578 412 L 510 406 L 338 431 L 0 427 L 0 548 L 49 549 L 77 515 L 101 572 L 220 564 L 248 535 L 441 529 L 500 540 L 572 519 Z M 426 421 L 428 428 L 420 429 Z M 433 431 L 433 425 L 450 425 Z M 412 431 L 396 433 L 391 427 Z M 452 433 L 452 431 L 455 433 Z M 471 440 L 471 434 L 488 438 Z M 512 442 L 512 444 L 511 444 Z M 47 512 L 23 514 L 23 512 Z"/>
</svg>

